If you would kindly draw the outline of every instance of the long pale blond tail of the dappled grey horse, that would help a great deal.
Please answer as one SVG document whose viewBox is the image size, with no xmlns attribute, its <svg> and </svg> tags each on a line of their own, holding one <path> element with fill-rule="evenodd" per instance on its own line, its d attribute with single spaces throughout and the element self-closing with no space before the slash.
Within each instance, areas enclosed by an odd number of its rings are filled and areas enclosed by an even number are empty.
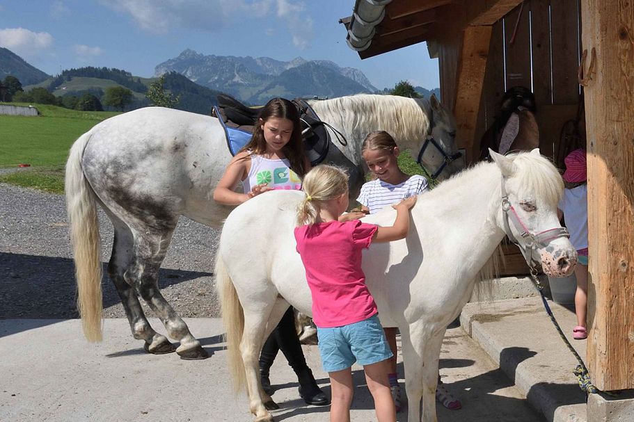
<svg viewBox="0 0 634 422">
<path fill-rule="evenodd" d="M 80 136 L 70 148 L 66 163 L 65 192 L 70 241 L 77 279 L 77 308 L 88 341 L 102 340 L 102 264 L 97 203 L 88 184 L 81 157 L 90 132 Z"/>
</svg>

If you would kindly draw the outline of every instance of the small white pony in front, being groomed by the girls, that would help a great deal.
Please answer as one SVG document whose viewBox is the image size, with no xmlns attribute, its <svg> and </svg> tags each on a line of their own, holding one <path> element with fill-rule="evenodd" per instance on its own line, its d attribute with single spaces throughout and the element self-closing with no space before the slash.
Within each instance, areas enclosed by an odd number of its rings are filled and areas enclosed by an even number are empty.
<svg viewBox="0 0 634 422">
<path fill-rule="evenodd" d="M 541 261 L 548 275 L 569 274 L 576 264 L 576 251 L 557 219 L 563 183 L 553 164 L 537 149 L 491 154 L 495 163 L 480 163 L 420 195 L 405 239 L 371 245 L 363 255 L 381 323 L 401 332 L 410 422 L 420 421 L 421 400 L 422 420 L 436 421 L 445 328 L 506 234 L 528 246 L 528 255 Z M 273 193 L 238 206 L 225 222 L 216 257 L 231 373 L 238 389 L 246 382 L 255 421 L 272 421 L 267 409 L 275 408 L 257 371 L 264 339 L 289 304 L 311 314 L 293 236 L 303 197 L 302 192 Z M 363 220 L 391 225 L 394 218 L 388 208 Z"/>
</svg>

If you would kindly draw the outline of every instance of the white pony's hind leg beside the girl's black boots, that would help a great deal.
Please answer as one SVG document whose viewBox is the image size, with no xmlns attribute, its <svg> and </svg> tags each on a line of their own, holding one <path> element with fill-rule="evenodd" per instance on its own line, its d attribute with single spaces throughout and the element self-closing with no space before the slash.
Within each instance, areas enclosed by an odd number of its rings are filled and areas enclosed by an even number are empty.
<svg viewBox="0 0 634 422">
<path fill-rule="evenodd" d="M 277 299 L 272 308 L 264 306 L 259 307 L 260 309 L 257 307 L 244 309 L 244 331 L 240 342 L 240 352 L 244 362 L 249 409 L 255 415 L 256 422 L 273 421 L 269 410 L 280 408 L 262 389 L 259 369 L 260 352 L 262 352 L 264 339 L 267 339 L 278 325 L 289 306 L 285 300 Z"/>
</svg>

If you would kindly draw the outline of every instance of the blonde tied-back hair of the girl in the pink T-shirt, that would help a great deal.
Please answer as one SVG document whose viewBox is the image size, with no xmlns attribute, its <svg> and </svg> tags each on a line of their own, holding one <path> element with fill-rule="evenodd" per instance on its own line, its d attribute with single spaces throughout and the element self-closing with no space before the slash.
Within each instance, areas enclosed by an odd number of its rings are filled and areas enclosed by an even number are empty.
<svg viewBox="0 0 634 422">
<path fill-rule="evenodd" d="M 348 175 L 334 165 L 317 165 L 303 179 L 306 198 L 297 206 L 297 225 L 315 224 L 320 204 L 348 191 Z"/>
</svg>

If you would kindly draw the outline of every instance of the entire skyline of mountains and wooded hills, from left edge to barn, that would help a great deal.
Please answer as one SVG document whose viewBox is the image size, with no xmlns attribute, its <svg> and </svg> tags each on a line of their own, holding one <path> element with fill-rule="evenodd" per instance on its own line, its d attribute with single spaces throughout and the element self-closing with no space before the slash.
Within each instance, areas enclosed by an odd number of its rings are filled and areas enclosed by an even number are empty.
<svg viewBox="0 0 634 422">
<path fill-rule="evenodd" d="M 333 98 L 360 92 L 388 94 L 390 88 L 377 90 L 363 72 L 352 67 L 340 67 L 330 60 L 294 58 L 280 61 L 269 57 L 205 56 L 191 49 L 156 66 L 157 76 L 164 76 L 164 88 L 180 94 L 176 108 L 194 113 L 208 114 L 216 104 L 216 95 L 225 92 L 246 104 L 264 104 L 272 97 Z M 13 75 L 24 90 L 41 87 L 57 97 L 85 92 L 104 95 L 111 86 L 124 86 L 132 90 L 134 103 L 129 108 L 147 106 L 145 98 L 150 83 L 156 78 L 140 78 L 125 70 L 106 67 L 82 67 L 64 70 L 50 76 L 33 67 L 12 51 L 0 47 L 0 81 Z M 414 88 L 423 97 L 438 88 Z"/>
</svg>

